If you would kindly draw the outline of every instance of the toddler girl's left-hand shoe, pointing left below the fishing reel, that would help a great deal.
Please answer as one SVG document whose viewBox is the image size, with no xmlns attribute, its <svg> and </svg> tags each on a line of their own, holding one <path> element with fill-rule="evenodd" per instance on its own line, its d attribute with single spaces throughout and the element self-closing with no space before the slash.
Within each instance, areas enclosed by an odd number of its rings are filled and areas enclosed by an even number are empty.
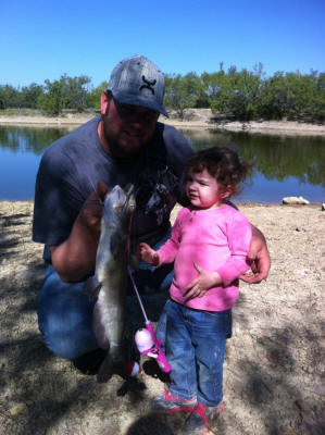
<svg viewBox="0 0 325 435">
<path fill-rule="evenodd" d="M 174 396 L 170 393 L 168 389 L 165 390 L 164 394 L 155 396 L 151 402 L 150 408 L 151 411 L 154 412 L 167 412 L 174 413 L 179 411 L 190 412 L 197 405 L 197 398 L 192 397 L 191 399 L 182 399 L 180 397 Z"/>
</svg>

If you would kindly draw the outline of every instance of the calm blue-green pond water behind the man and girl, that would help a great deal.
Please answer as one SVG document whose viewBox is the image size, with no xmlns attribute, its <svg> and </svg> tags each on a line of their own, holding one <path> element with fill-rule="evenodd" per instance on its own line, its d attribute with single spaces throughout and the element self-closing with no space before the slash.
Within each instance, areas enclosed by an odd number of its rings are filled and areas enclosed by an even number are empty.
<svg viewBox="0 0 325 435">
<path fill-rule="evenodd" d="M 66 128 L 0 126 L 0 200 L 34 198 L 35 178 L 45 149 Z M 227 146 L 254 164 L 235 201 L 282 203 L 287 196 L 325 202 L 325 138 L 187 129 L 195 149 Z"/>
</svg>

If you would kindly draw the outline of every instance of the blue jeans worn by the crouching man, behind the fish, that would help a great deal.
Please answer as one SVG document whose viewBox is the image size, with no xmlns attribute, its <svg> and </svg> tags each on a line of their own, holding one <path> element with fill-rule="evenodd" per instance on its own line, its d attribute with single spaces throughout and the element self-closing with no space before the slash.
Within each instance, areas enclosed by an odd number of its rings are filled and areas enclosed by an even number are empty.
<svg viewBox="0 0 325 435">
<path fill-rule="evenodd" d="M 159 249 L 170 237 L 170 232 L 153 249 Z M 154 269 L 140 262 L 134 279 L 141 295 L 148 319 L 157 322 L 168 298 L 174 271 L 173 264 Z M 76 359 L 98 348 L 91 321 L 95 302 L 83 291 L 84 282 L 64 283 L 52 265 L 46 270 L 43 287 L 37 306 L 38 325 L 42 340 L 55 355 Z M 143 327 L 145 319 L 128 278 L 126 296 L 126 323 L 130 332 Z M 162 319 L 157 336 L 164 338 L 165 321 Z"/>
</svg>

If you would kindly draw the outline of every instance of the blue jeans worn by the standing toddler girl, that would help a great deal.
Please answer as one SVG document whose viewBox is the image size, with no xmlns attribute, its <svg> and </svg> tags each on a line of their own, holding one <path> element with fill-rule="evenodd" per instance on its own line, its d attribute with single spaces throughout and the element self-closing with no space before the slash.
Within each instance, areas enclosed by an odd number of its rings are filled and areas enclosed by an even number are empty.
<svg viewBox="0 0 325 435">
<path fill-rule="evenodd" d="M 183 399 L 217 406 L 223 398 L 226 338 L 232 336 L 232 310 L 200 311 L 168 300 L 166 357 L 172 365 L 171 393 Z"/>
</svg>

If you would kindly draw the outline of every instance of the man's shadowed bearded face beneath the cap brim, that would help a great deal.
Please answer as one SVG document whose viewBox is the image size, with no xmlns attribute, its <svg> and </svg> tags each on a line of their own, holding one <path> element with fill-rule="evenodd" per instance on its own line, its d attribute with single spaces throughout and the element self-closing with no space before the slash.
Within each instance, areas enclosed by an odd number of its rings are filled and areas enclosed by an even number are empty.
<svg viewBox="0 0 325 435">
<path fill-rule="evenodd" d="M 159 113 L 147 108 L 122 104 L 102 95 L 102 125 L 99 137 L 104 149 L 120 159 L 137 154 L 152 138 Z"/>
</svg>

